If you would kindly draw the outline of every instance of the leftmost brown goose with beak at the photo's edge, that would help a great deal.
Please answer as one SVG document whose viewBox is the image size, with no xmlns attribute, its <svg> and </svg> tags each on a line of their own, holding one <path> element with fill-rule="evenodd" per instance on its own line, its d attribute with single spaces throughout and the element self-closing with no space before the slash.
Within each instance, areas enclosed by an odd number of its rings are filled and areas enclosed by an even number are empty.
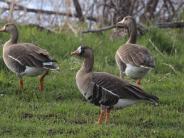
<svg viewBox="0 0 184 138">
<path fill-rule="evenodd" d="M 31 43 L 17 43 L 18 30 L 14 24 L 6 24 L 0 32 L 10 33 L 11 37 L 3 46 L 3 60 L 12 72 L 19 77 L 20 88 L 23 89 L 22 76 L 40 75 L 39 90 L 43 91 L 44 77 L 49 70 L 59 69 L 56 61 L 49 53 Z"/>
</svg>

